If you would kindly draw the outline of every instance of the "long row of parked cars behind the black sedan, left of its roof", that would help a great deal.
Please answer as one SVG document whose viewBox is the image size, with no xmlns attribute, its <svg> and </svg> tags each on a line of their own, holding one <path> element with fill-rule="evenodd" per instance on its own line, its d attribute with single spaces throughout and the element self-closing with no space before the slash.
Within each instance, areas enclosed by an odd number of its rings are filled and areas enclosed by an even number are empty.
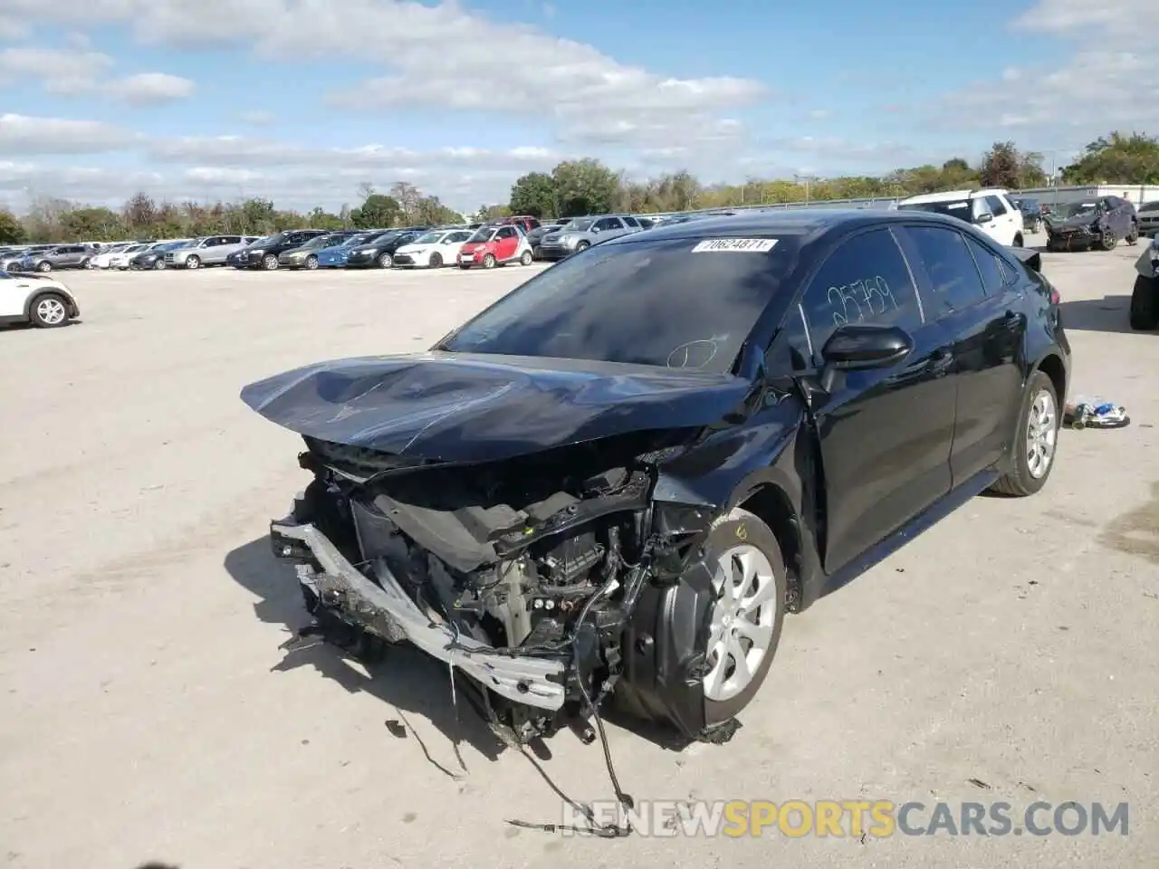
<svg viewBox="0 0 1159 869">
<path fill-rule="evenodd" d="M 51 272 L 58 269 L 146 271 L 202 269 L 491 269 L 508 263 L 560 260 L 598 241 L 731 212 L 697 212 L 665 218 L 596 214 L 540 221 L 529 216 L 451 226 L 380 229 L 290 229 L 264 238 L 209 235 L 107 244 L 59 244 L 0 249 L 0 270 Z"/>
</svg>

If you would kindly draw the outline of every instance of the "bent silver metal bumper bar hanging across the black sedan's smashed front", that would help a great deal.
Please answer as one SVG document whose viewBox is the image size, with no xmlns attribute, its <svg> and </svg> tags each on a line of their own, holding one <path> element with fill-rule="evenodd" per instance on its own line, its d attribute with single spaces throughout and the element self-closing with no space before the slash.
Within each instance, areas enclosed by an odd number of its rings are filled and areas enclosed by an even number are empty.
<svg viewBox="0 0 1159 869">
<path fill-rule="evenodd" d="M 376 575 L 381 580 L 379 586 L 311 523 L 274 521 L 270 541 L 275 555 L 299 561 L 298 580 L 345 621 L 391 642 L 407 640 L 513 702 L 553 711 L 563 706 L 562 660 L 501 652 L 431 621 L 407 597 L 384 563 L 376 565 Z M 304 563 L 307 558 L 320 570 Z"/>
</svg>

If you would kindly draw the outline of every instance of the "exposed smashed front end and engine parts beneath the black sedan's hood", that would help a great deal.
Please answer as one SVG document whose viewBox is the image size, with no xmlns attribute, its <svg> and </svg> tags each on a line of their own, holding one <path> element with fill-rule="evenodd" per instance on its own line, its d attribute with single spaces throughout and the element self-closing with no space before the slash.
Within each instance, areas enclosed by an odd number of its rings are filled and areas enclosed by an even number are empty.
<svg viewBox="0 0 1159 869">
<path fill-rule="evenodd" d="M 592 742 L 613 691 L 635 717 L 724 742 L 736 722 L 708 720 L 700 681 L 715 592 L 698 541 L 712 516 L 651 501 L 656 461 L 681 437 L 479 463 L 306 437 L 314 479 L 272 524 L 274 549 L 299 564 L 312 633 L 418 645 L 509 744 L 566 725 Z"/>
</svg>

